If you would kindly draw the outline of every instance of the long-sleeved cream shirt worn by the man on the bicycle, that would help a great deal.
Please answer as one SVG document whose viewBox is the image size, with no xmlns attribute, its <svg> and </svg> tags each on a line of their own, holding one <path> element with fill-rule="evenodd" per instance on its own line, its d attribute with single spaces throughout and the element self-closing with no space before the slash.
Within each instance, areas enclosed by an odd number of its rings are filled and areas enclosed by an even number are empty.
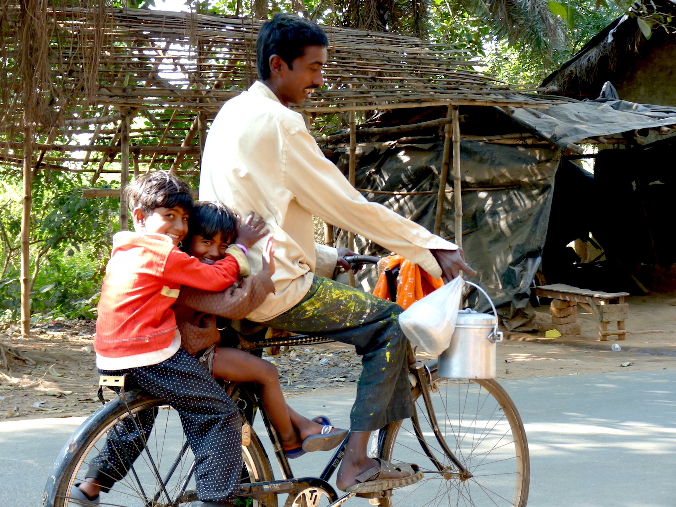
<svg viewBox="0 0 676 507">
<path fill-rule="evenodd" d="M 314 242 L 313 214 L 375 241 L 435 277 L 441 268 L 429 249 L 457 248 L 367 201 L 324 157 L 301 114 L 282 105 L 260 81 L 218 112 L 204 147 L 199 199 L 221 201 L 243 218 L 254 211 L 274 235 L 276 293 L 248 316 L 257 322 L 293 308 L 310 289 L 314 274 L 331 277 L 336 249 Z M 261 268 L 263 245 L 261 240 L 249 249 L 254 273 Z"/>
</svg>

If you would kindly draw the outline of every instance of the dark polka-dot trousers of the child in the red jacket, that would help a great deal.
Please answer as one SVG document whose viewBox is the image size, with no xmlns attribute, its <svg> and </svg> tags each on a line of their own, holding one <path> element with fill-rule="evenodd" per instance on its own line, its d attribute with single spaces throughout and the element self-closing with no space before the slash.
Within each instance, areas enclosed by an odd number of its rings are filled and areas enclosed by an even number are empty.
<svg viewBox="0 0 676 507">
<path fill-rule="evenodd" d="M 183 349 L 159 364 L 101 375 L 130 372 L 145 391 L 165 400 L 180 416 L 183 432 L 195 455 L 197 498 L 202 502 L 234 500 L 242 471 L 241 418 L 235 402 L 204 366 Z M 89 463 L 85 475 L 97 479 L 103 491 L 126 476 L 143 452 L 155 420 L 155 410 L 127 417 L 107 433 L 105 445 Z"/>
</svg>

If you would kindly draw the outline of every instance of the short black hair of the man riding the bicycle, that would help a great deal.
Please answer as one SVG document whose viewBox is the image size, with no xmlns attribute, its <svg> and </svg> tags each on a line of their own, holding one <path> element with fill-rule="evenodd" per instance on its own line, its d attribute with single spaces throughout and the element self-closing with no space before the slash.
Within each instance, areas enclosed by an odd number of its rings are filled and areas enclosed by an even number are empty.
<svg viewBox="0 0 676 507">
<path fill-rule="evenodd" d="M 270 77 L 270 56 L 279 55 L 289 68 L 306 46 L 328 46 L 329 39 L 318 24 L 288 12 L 278 12 L 261 26 L 256 39 L 258 78 Z"/>
</svg>

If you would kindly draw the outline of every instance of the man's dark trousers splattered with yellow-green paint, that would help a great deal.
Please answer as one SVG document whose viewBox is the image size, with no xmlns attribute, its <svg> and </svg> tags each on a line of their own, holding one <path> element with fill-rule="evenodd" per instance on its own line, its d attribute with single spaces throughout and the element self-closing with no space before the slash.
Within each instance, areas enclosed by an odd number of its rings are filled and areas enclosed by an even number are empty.
<svg viewBox="0 0 676 507">
<path fill-rule="evenodd" d="M 315 276 L 296 306 L 261 323 L 354 345 L 363 370 L 350 429 L 370 432 L 412 416 L 407 341 L 398 321 L 403 311 L 391 301 Z"/>
</svg>

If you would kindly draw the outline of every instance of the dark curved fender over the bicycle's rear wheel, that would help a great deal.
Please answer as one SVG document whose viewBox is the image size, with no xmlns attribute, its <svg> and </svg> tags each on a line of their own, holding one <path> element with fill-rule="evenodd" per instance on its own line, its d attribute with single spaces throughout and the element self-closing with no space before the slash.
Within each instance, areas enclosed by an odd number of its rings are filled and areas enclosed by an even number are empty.
<svg viewBox="0 0 676 507">
<path fill-rule="evenodd" d="M 147 396 L 147 393 L 142 393 L 140 389 L 133 389 L 124 393 L 124 400 L 129 403 L 137 400 L 140 397 Z M 124 408 L 124 402 L 120 397 L 115 397 L 110 402 L 99 408 L 96 412 L 91 414 L 87 420 L 84 421 L 70 436 L 68 441 L 64 444 L 61 452 L 54 461 L 49 477 L 47 477 L 47 484 L 43 493 L 42 507 L 53 507 L 56 499 L 57 489 L 66 474 L 70 462 L 73 460 L 76 452 L 87 441 L 87 437 L 91 435 L 94 429 L 103 424 L 106 418 L 111 414 Z"/>
</svg>

